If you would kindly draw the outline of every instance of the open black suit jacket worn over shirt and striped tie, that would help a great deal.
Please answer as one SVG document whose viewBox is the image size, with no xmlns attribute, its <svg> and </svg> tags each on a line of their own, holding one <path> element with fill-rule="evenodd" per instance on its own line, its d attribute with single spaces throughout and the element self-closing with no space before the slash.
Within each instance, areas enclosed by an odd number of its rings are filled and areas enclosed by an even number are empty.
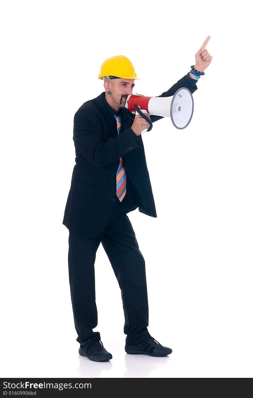
<svg viewBox="0 0 253 398">
<path fill-rule="evenodd" d="M 189 73 L 159 97 L 173 96 L 181 87 L 193 94 L 197 90 L 197 80 L 190 78 Z M 127 170 L 127 183 L 131 182 L 137 193 L 135 206 L 128 211 L 139 207 L 141 213 L 157 217 L 143 141 L 141 135 L 137 136 L 131 129 L 135 115 L 126 108 L 120 110 L 122 129 L 118 135 L 114 113 L 102 92 L 84 102 L 74 117 L 76 164 L 63 224 L 87 238 L 95 238 L 102 232 L 112 212 L 121 156 Z M 159 119 L 162 117 L 151 115 L 152 122 Z"/>
</svg>

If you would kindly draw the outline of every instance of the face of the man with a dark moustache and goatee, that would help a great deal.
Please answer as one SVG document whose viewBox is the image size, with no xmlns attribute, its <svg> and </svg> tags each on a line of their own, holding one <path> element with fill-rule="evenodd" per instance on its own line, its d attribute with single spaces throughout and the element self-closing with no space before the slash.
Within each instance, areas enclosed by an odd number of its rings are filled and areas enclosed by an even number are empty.
<svg viewBox="0 0 253 398">
<path fill-rule="evenodd" d="M 133 79 L 111 80 L 111 98 L 119 108 L 124 108 L 126 105 L 127 96 L 132 94 L 134 85 Z"/>
</svg>

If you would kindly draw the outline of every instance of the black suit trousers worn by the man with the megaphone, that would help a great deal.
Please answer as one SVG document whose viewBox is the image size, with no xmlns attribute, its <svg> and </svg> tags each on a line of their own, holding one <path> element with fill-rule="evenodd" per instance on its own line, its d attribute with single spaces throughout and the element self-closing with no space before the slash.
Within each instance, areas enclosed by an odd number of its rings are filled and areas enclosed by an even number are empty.
<svg viewBox="0 0 253 398">
<path fill-rule="evenodd" d="M 69 283 L 79 343 L 98 336 L 94 263 L 100 242 L 110 260 L 121 289 L 126 344 L 150 338 L 145 260 L 139 250 L 126 209 L 116 196 L 114 208 L 102 233 L 89 239 L 69 230 Z M 109 325 L 110 327 L 110 325 Z"/>
</svg>

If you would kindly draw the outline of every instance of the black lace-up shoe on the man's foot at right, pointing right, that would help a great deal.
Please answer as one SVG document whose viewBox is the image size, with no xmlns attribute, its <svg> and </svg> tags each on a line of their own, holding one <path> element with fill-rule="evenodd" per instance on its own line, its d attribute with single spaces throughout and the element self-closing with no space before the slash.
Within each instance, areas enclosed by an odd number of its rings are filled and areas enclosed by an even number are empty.
<svg viewBox="0 0 253 398">
<path fill-rule="evenodd" d="M 151 357 L 166 357 L 172 353 L 172 349 L 164 347 L 153 337 L 150 339 L 141 341 L 137 345 L 125 345 L 125 351 L 127 354 L 145 354 L 151 355 Z"/>
</svg>

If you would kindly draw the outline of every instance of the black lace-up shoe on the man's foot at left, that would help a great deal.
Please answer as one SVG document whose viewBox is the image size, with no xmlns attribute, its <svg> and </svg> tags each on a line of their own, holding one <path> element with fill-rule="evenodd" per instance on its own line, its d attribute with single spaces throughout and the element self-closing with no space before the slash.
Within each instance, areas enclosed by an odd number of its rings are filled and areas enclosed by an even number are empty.
<svg viewBox="0 0 253 398">
<path fill-rule="evenodd" d="M 106 351 L 104 345 L 98 337 L 88 339 L 85 343 L 80 344 L 79 354 L 87 357 L 91 361 L 103 362 L 112 359 L 112 354 Z"/>
</svg>

